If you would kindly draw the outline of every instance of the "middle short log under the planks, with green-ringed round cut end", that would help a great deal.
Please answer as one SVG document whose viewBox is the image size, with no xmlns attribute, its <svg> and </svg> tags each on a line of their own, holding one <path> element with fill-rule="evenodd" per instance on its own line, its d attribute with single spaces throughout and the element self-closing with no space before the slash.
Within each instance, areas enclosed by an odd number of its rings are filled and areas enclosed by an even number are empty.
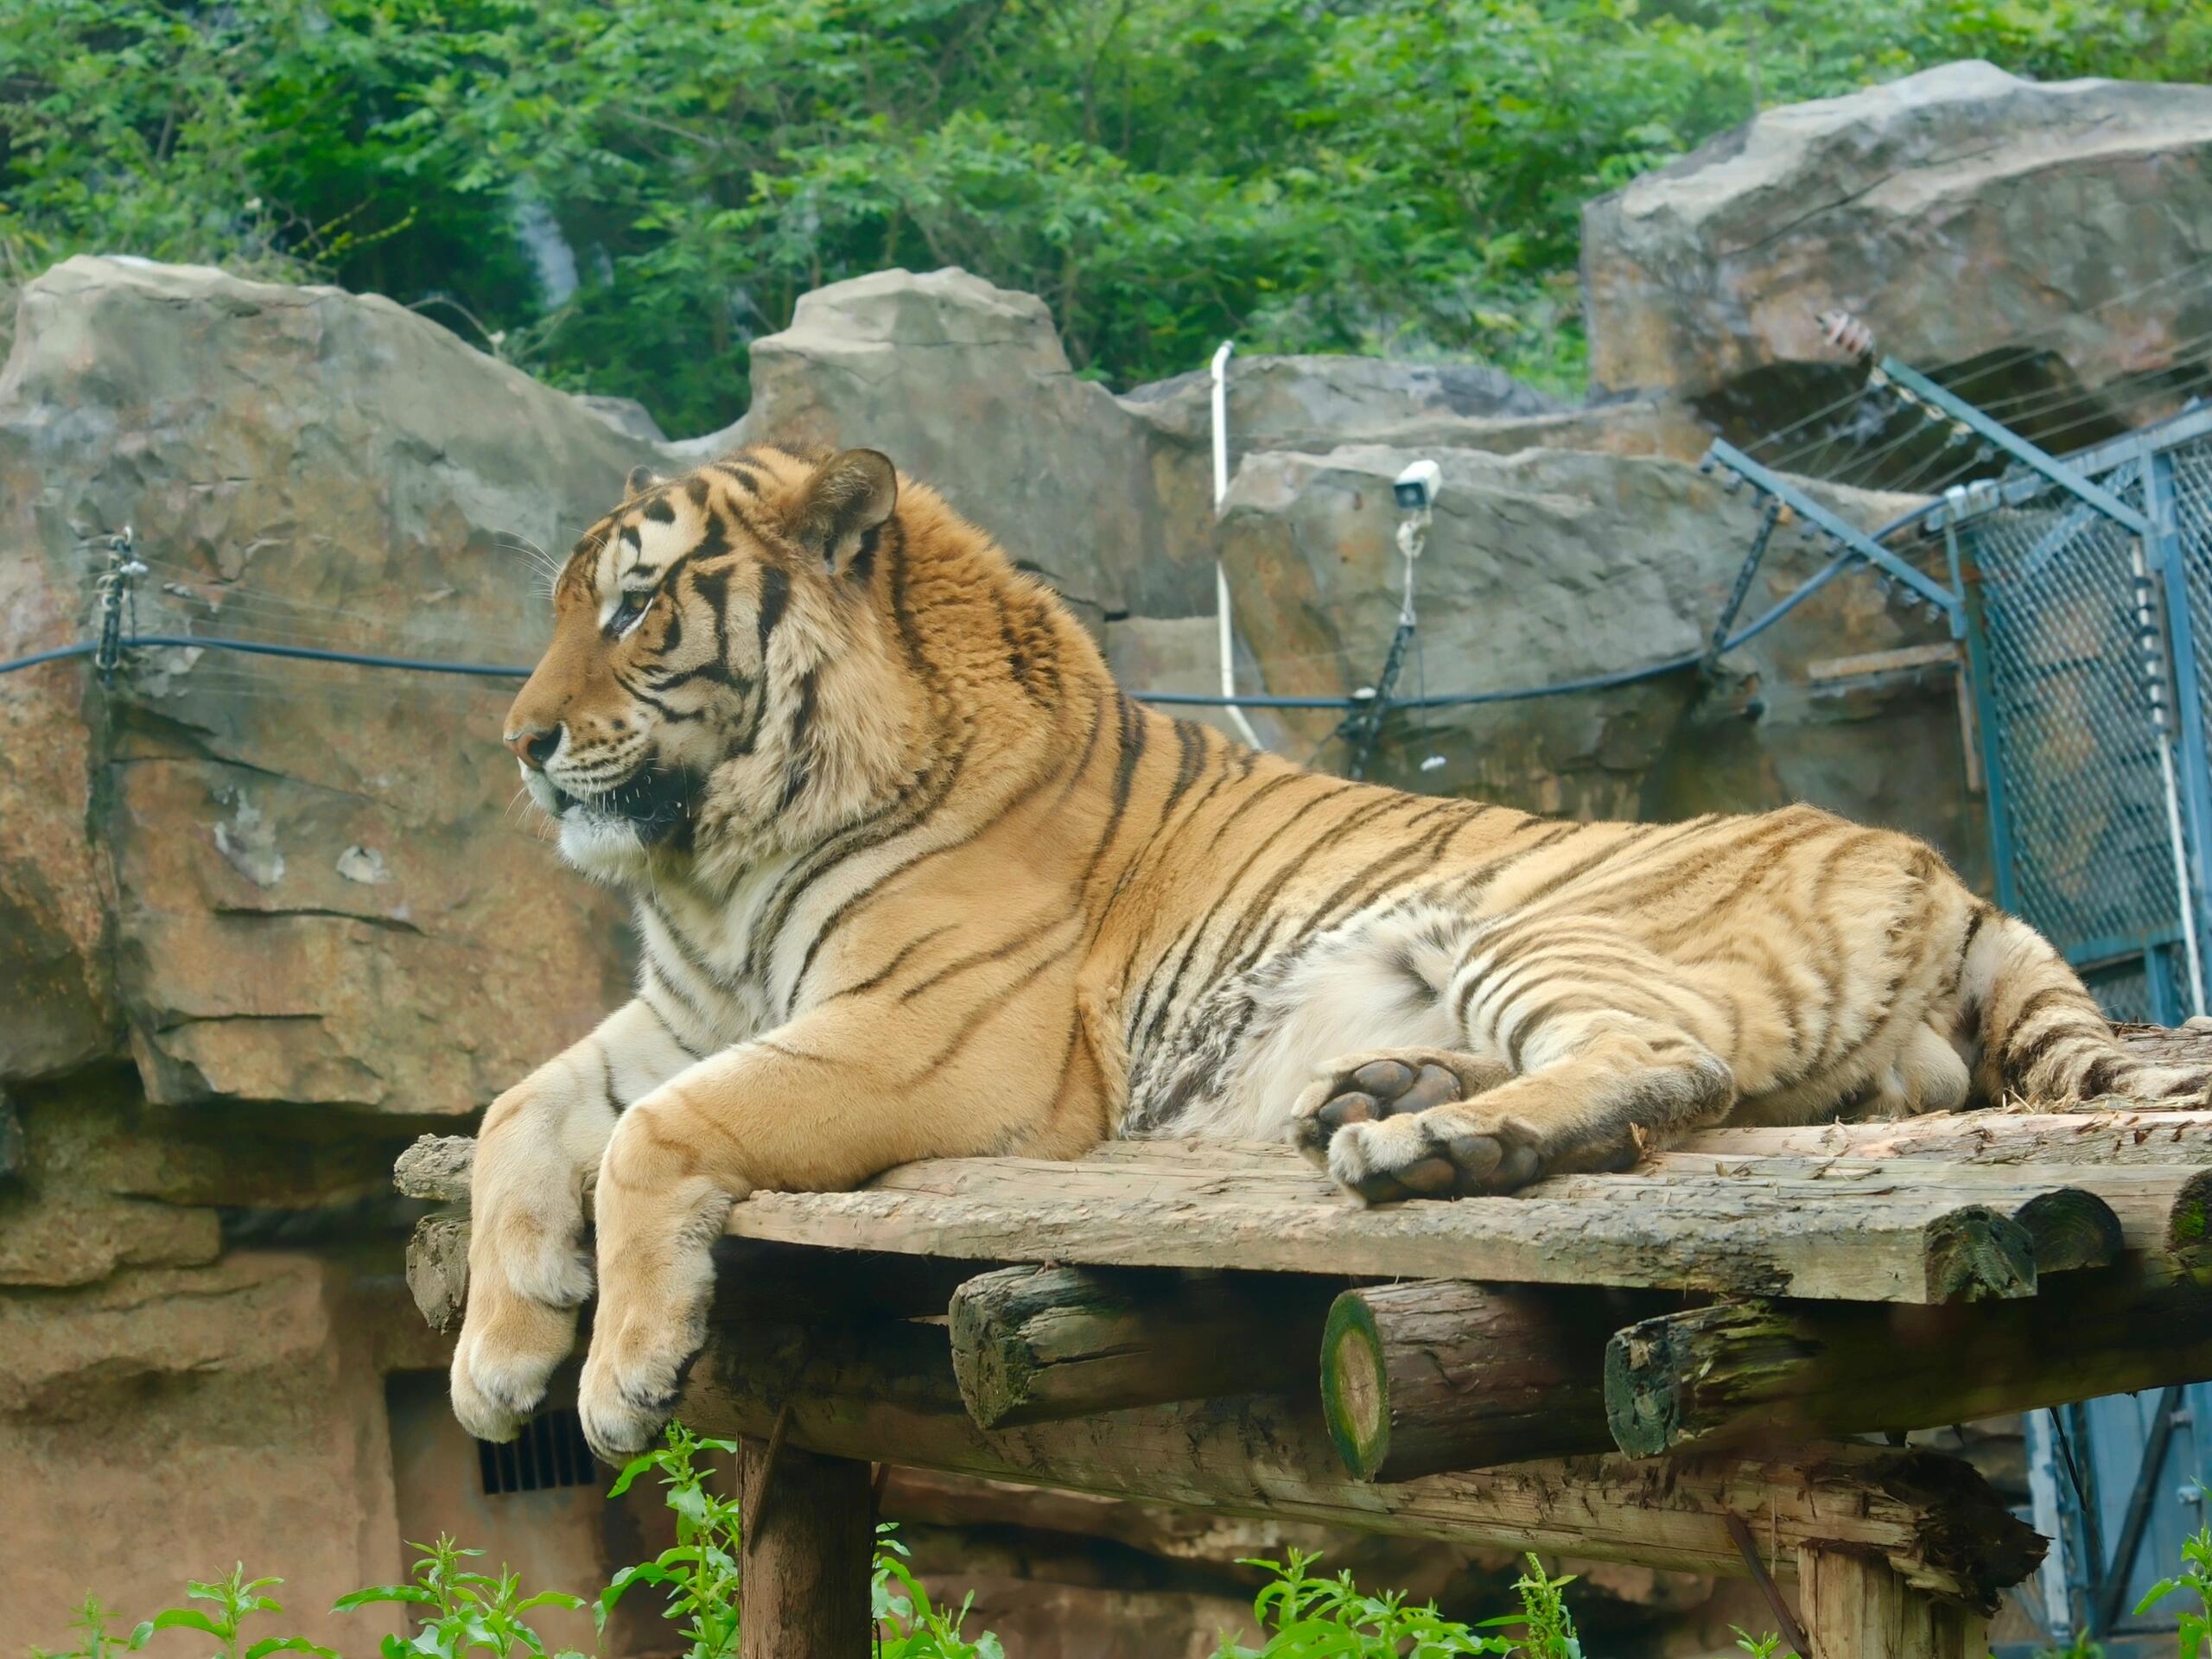
<svg viewBox="0 0 2212 1659">
<path fill-rule="evenodd" d="M 1347 1290 L 1321 1338 L 1321 1418 L 1358 1480 L 1606 1451 L 1606 1343 L 1650 1294 L 1429 1279 Z"/>
</svg>

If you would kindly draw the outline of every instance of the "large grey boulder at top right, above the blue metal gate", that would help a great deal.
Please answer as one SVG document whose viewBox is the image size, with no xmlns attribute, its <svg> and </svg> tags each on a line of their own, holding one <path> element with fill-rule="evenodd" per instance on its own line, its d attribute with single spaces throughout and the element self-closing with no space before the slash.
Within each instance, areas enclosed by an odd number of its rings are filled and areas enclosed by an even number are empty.
<svg viewBox="0 0 2212 1659">
<path fill-rule="evenodd" d="M 1761 111 L 1582 241 L 1597 387 L 1752 434 L 1843 387 L 1818 319 L 1845 310 L 1978 400 L 2042 394 L 2013 407 L 2075 447 L 2203 385 L 2212 86 L 1944 64 Z"/>
</svg>

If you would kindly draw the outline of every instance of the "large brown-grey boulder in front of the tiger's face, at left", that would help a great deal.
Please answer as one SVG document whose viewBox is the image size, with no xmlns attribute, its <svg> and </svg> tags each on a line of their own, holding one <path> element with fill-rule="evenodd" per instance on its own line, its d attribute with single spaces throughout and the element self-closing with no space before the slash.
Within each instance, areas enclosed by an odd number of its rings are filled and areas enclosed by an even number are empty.
<svg viewBox="0 0 2212 1659">
<path fill-rule="evenodd" d="M 9 655 L 146 633 L 526 666 L 535 553 L 661 451 L 400 305 L 71 259 L 0 378 Z M 0 1075 L 128 1051 L 155 1104 L 482 1106 L 624 995 L 622 909 L 513 810 L 511 681 L 186 648 L 0 697 Z"/>
</svg>

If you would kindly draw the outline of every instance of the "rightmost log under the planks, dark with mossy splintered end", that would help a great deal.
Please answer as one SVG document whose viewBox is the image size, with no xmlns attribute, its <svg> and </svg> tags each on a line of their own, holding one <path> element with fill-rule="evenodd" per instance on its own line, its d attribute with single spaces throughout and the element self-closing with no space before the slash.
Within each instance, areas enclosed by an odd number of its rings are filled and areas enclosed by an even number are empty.
<svg viewBox="0 0 2212 1659">
<path fill-rule="evenodd" d="M 1635 1458 L 1927 1429 L 2212 1378 L 2212 1290 L 2130 1259 L 1973 1310 L 1717 1303 L 1621 1329 L 1604 1376 Z"/>
</svg>

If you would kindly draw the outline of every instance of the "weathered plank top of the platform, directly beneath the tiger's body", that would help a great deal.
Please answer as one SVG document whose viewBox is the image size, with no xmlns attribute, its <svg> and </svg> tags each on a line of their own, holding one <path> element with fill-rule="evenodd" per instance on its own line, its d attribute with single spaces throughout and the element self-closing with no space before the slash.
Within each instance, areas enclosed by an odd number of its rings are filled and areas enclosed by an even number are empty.
<svg viewBox="0 0 2212 1659">
<path fill-rule="evenodd" d="M 1969 1170 L 1936 1168 L 1949 1164 Z M 414 1192 L 467 1188 L 465 1144 L 425 1146 L 403 1166 Z M 1234 1261 L 1365 1279 L 1940 1303 L 2031 1294 L 2035 1234 L 2053 1270 L 2108 1261 L 2101 1221 L 2075 1188 L 2124 1210 L 2119 1237 L 2132 1248 L 2203 1252 L 2212 1181 L 2161 1183 L 2124 1172 L 2132 1166 L 2212 1168 L 2212 1113 L 1714 1130 L 1626 1175 L 1374 1210 L 1283 1146 L 1115 1141 L 1071 1164 L 942 1159 L 860 1192 L 763 1192 L 730 1212 L 730 1232 L 978 1261 Z"/>
</svg>

